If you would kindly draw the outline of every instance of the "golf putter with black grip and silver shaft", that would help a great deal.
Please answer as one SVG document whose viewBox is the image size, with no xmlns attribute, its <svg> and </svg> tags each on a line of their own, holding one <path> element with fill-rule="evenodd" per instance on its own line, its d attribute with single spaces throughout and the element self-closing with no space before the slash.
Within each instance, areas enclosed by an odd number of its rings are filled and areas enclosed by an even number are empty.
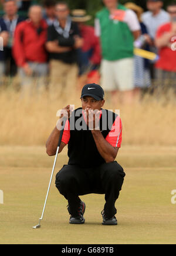
<svg viewBox="0 0 176 256">
<path fill-rule="evenodd" d="M 49 187 L 48 187 L 48 191 L 47 191 L 47 194 L 46 194 L 46 199 L 45 199 L 45 204 L 44 204 L 44 207 L 43 207 L 42 216 L 41 216 L 41 218 L 39 218 L 39 224 L 33 227 L 34 229 L 37 229 L 37 228 L 41 227 L 40 222 L 43 220 L 43 215 L 44 215 L 44 212 L 45 212 L 45 207 L 46 207 L 46 202 L 48 200 L 50 185 L 51 185 L 53 174 L 54 174 L 55 167 L 56 167 L 57 156 L 58 156 L 58 153 L 59 153 L 59 148 L 60 148 L 60 144 L 61 144 L 61 141 L 62 141 L 62 136 L 63 136 L 63 131 L 64 131 L 64 128 L 65 128 L 66 120 L 67 120 L 66 118 L 63 118 L 63 126 L 62 126 L 62 130 L 60 131 L 60 137 L 59 137 L 59 143 L 58 143 L 58 146 L 57 146 L 55 162 L 53 164 L 52 175 L 51 175 L 50 181 L 49 181 Z"/>
</svg>

